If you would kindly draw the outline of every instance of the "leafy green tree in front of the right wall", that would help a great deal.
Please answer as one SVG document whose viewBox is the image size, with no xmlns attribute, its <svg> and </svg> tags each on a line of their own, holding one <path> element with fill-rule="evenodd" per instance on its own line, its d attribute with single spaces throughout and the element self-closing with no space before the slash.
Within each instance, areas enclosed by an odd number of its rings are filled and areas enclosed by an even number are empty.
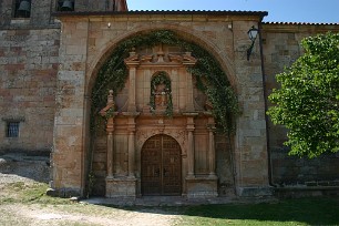
<svg viewBox="0 0 339 226">
<path fill-rule="evenodd" d="M 268 115 L 288 129 L 290 155 L 339 151 L 339 33 L 302 40 L 305 54 L 276 76 Z"/>
</svg>

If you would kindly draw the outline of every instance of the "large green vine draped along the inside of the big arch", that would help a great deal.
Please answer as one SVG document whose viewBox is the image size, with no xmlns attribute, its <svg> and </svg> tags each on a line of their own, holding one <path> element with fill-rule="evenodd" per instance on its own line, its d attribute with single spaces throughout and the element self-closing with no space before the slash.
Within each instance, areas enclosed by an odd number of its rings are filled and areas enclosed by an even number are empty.
<svg viewBox="0 0 339 226">
<path fill-rule="evenodd" d="M 192 55 L 197 59 L 196 65 L 187 70 L 196 78 L 197 88 L 207 95 L 213 104 L 213 113 L 218 127 L 227 134 L 234 132 L 235 117 L 239 113 L 238 102 L 219 63 L 202 47 L 184 41 L 178 34 L 168 30 L 140 33 L 119 43 L 100 69 L 93 86 L 91 122 L 94 122 L 93 117 L 96 117 L 97 112 L 105 106 L 109 90 L 114 90 L 114 95 L 116 95 L 124 88 L 127 69 L 123 60 L 129 56 L 132 48 L 152 48 L 161 43 L 181 47 L 184 51 L 192 52 Z M 151 106 L 152 104 L 154 103 L 151 102 Z M 91 123 L 91 129 L 95 130 L 95 127 L 96 125 Z"/>
</svg>

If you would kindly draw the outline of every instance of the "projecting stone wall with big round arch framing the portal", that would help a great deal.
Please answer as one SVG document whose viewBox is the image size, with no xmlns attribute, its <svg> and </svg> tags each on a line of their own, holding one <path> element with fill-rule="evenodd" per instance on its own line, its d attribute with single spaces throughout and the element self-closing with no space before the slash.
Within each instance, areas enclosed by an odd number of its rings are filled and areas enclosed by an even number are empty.
<svg viewBox="0 0 339 226">
<path fill-rule="evenodd" d="M 214 13 L 172 14 L 60 14 L 62 21 L 54 133 L 55 188 L 82 189 L 89 102 L 97 70 L 120 41 L 142 32 L 170 29 L 184 40 L 209 51 L 237 92 L 243 114 L 234 137 L 234 160 L 238 194 L 246 188 L 256 191 L 268 186 L 266 124 L 259 44 L 251 61 L 246 59 L 250 45 L 248 29 L 258 23 L 260 14 L 227 16 Z M 110 24 L 110 25 L 109 25 Z M 85 111 L 84 111 L 85 110 Z M 72 156 L 72 157 L 70 157 Z M 251 193 L 256 195 L 256 193 Z"/>
</svg>

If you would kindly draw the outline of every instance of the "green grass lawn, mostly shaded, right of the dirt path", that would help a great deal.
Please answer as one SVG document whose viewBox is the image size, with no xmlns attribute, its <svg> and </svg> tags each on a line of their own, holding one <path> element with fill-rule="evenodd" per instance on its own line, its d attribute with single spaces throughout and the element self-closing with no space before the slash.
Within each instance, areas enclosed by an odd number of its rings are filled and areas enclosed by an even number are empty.
<svg viewBox="0 0 339 226">
<path fill-rule="evenodd" d="M 183 225 L 339 225 L 339 197 L 187 207 Z"/>
</svg>

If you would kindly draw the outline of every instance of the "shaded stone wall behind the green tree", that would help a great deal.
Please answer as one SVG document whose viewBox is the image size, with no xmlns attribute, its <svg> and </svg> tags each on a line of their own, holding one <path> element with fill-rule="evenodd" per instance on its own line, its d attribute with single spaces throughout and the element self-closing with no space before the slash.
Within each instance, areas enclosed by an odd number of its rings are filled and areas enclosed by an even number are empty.
<svg viewBox="0 0 339 226">
<path fill-rule="evenodd" d="M 269 95 L 277 88 L 275 75 L 284 71 L 301 54 L 304 38 L 338 32 L 335 24 L 297 24 L 297 23 L 264 23 L 263 49 L 265 63 L 265 85 Z M 268 102 L 268 106 L 271 104 Z M 288 147 L 284 146 L 287 131 L 268 121 L 269 152 L 273 183 L 277 185 L 337 185 L 339 182 L 339 155 L 326 154 L 319 158 L 308 160 L 288 156 Z"/>
</svg>

